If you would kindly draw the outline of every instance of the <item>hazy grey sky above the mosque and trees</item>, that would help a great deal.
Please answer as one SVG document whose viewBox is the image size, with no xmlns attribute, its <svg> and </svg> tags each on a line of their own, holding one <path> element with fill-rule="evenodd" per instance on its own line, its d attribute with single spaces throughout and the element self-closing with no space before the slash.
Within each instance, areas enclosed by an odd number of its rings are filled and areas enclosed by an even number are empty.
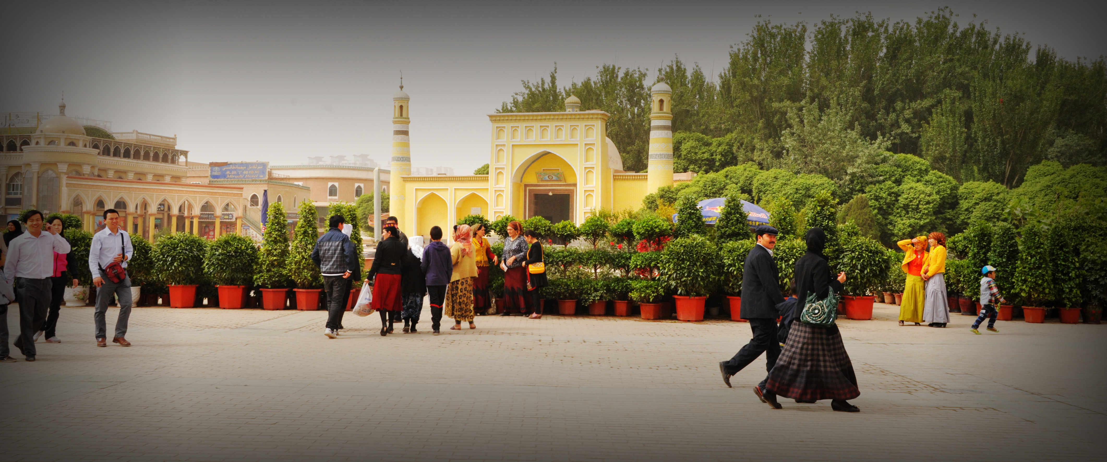
<svg viewBox="0 0 1107 462">
<path fill-rule="evenodd" d="M 910 19 L 943 6 L 1025 33 L 1068 59 L 1107 54 L 1105 2 L 64 2 L 8 3 L 0 111 L 112 122 L 178 136 L 190 160 L 389 162 L 404 74 L 412 163 L 468 173 L 488 162 L 488 117 L 557 62 L 568 83 L 679 54 L 717 74 L 757 16 Z"/>
</svg>

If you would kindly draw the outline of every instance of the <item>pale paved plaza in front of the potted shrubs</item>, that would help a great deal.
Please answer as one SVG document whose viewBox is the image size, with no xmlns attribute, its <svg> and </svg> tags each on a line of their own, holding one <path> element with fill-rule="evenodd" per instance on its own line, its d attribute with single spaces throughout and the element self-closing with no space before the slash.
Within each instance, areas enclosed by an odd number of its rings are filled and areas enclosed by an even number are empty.
<svg viewBox="0 0 1107 462">
<path fill-rule="evenodd" d="M 722 319 L 478 317 L 435 337 L 424 309 L 420 333 L 382 338 L 375 315 L 346 314 L 331 340 L 323 311 L 135 308 L 134 347 L 96 348 L 92 312 L 63 308 L 62 343 L 0 363 L 0 460 L 1107 458 L 1107 325 L 975 336 L 966 316 L 898 327 L 878 304 L 839 320 L 861 389 L 850 414 L 761 403 L 763 360 L 726 388 L 717 362 L 749 327 Z"/>
</svg>

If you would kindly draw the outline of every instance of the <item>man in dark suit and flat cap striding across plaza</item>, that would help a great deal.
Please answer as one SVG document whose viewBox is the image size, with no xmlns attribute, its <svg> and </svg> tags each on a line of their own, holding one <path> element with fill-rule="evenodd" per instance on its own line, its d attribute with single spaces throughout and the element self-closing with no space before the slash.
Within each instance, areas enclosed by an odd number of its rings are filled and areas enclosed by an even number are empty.
<svg viewBox="0 0 1107 462">
<path fill-rule="evenodd" d="M 765 370 L 769 371 L 776 365 L 776 358 L 780 356 L 776 326 L 776 318 L 780 315 L 776 306 L 784 301 L 784 296 L 780 295 L 780 285 L 777 283 L 779 273 L 776 261 L 773 260 L 777 230 L 772 226 L 757 226 L 754 233 L 757 235 L 757 245 L 749 250 L 743 267 L 741 308 L 742 318 L 749 320 L 754 338 L 730 361 L 718 363 L 723 382 L 727 387 L 731 386 L 731 376 L 749 366 L 763 352 L 768 352 L 765 358 Z M 774 409 L 780 409 L 775 394 L 766 393 L 761 386 L 755 386 L 754 392 Z"/>
</svg>

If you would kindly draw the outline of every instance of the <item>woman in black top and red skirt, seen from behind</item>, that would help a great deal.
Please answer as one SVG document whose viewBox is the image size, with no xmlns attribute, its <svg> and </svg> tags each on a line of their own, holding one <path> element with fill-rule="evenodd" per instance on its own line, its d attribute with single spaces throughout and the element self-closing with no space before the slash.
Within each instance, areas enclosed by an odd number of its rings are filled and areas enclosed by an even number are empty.
<svg viewBox="0 0 1107 462">
<path fill-rule="evenodd" d="M 407 246 L 400 243 L 400 228 L 389 223 L 382 226 L 384 238 L 376 245 L 373 266 L 365 281 L 373 286 L 373 309 L 381 314 L 381 337 L 392 333 L 392 325 L 400 320 L 403 310 L 404 254 Z"/>
</svg>

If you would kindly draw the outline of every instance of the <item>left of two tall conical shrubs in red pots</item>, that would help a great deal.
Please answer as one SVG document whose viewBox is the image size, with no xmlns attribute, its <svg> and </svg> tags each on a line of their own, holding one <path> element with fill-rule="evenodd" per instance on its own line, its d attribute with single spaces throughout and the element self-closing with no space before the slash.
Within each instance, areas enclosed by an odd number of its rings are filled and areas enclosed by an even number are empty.
<svg viewBox="0 0 1107 462">
<path fill-rule="evenodd" d="M 269 224 L 261 238 L 258 270 L 254 285 L 260 287 L 261 307 L 269 310 L 284 309 L 290 278 L 288 275 L 288 222 L 281 203 L 269 205 Z"/>
</svg>

